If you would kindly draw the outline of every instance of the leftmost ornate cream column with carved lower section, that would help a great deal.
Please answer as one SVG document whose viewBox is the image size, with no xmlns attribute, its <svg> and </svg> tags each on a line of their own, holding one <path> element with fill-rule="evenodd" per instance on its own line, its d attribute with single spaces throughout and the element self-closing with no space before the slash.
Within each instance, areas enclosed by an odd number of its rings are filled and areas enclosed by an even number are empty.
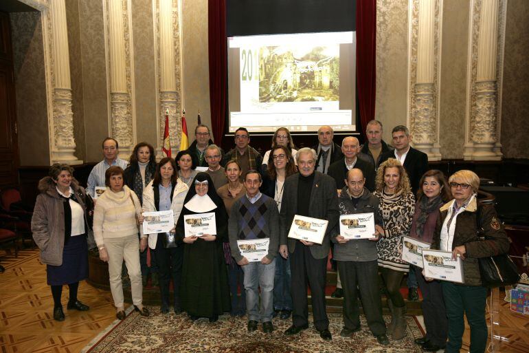
<svg viewBox="0 0 529 353">
<path fill-rule="evenodd" d="M 81 164 L 74 153 L 74 114 L 71 111 L 70 61 L 65 0 L 50 0 L 47 17 L 47 54 L 51 54 L 52 115 L 49 120 L 50 162 Z M 46 40 L 46 39 L 45 39 Z M 48 76 L 48 77 L 49 77 Z M 48 86 L 49 87 L 49 86 Z M 49 94 L 49 93 L 48 93 Z M 49 101 L 49 100 L 48 100 Z"/>
</svg>

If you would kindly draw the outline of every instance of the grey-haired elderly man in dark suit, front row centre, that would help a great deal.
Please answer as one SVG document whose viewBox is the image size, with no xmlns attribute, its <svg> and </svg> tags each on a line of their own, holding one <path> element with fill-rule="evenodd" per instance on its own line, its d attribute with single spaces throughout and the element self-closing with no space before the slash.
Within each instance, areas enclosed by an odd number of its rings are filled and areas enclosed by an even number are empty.
<svg viewBox="0 0 529 353">
<path fill-rule="evenodd" d="M 322 339 L 330 341 L 332 336 L 328 330 L 325 284 L 329 236 L 339 218 L 336 183 L 330 176 L 315 171 L 317 154 L 313 149 L 300 149 L 296 160 L 300 173 L 286 178 L 280 211 L 280 253 L 285 259 L 291 257 L 294 303 L 293 324 L 284 334 L 293 335 L 308 328 L 307 285 L 310 285 L 314 325 Z M 295 215 L 328 220 L 321 245 L 287 239 Z"/>
</svg>

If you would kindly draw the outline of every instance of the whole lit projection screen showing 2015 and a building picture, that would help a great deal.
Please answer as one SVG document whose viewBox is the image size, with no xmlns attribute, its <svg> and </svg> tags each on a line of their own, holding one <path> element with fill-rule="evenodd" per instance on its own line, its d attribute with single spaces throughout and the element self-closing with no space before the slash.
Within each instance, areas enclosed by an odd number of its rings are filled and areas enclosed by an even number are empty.
<svg viewBox="0 0 529 353">
<path fill-rule="evenodd" d="M 229 37 L 229 131 L 354 130 L 355 47 L 354 32 Z"/>
</svg>

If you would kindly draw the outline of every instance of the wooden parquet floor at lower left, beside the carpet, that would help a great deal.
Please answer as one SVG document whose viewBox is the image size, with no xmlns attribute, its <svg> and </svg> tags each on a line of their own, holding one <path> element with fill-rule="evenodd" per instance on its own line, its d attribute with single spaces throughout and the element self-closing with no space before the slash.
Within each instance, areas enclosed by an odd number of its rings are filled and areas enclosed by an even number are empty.
<svg viewBox="0 0 529 353">
<path fill-rule="evenodd" d="M 1 253 L 1 250 L 0 250 Z M 1 256 L 1 255 L 0 255 Z M 115 320 L 110 292 L 82 281 L 78 299 L 87 312 L 66 310 L 68 288 L 63 288 L 65 321 L 53 319 L 52 292 L 46 284 L 46 266 L 37 250 L 21 250 L 0 257 L 0 352 L 80 352 L 91 339 Z"/>
</svg>

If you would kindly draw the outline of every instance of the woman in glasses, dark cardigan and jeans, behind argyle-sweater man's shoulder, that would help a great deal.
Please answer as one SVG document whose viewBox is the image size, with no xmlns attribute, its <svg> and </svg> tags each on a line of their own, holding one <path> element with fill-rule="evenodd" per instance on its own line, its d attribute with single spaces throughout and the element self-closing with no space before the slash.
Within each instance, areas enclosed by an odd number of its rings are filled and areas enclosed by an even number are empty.
<svg viewBox="0 0 529 353">
<path fill-rule="evenodd" d="M 261 192 L 272 197 L 278 204 L 278 211 L 281 211 L 284 180 L 296 173 L 297 167 L 288 147 L 282 145 L 272 147 L 270 156 L 273 163 L 269 163 L 264 171 Z M 288 319 L 292 312 L 290 257 L 287 259 L 281 256 L 275 257 L 273 309 L 281 319 Z"/>
</svg>

